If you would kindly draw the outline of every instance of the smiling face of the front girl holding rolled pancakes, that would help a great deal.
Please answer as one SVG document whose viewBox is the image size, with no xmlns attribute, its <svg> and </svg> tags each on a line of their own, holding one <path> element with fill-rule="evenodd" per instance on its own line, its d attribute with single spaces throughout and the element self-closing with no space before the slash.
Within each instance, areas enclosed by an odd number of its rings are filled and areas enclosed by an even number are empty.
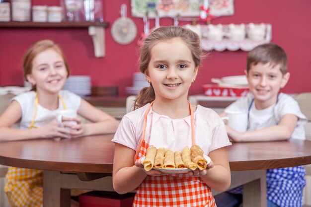
<svg viewBox="0 0 311 207">
<path fill-rule="evenodd" d="M 197 72 L 188 46 L 180 38 L 174 38 L 153 46 L 145 75 L 155 89 L 156 98 L 187 99 Z"/>
</svg>

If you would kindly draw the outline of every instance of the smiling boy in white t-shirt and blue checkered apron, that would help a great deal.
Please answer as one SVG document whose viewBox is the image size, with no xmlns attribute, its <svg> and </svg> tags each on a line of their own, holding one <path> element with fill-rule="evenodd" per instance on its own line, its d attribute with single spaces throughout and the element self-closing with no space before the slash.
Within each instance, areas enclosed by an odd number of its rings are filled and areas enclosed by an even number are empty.
<svg viewBox="0 0 311 207">
<path fill-rule="evenodd" d="M 247 56 L 245 71 L 250 93 L 231 104 L 226 111 L 248 111 L 247 132 L 239 133 L 226 125 L 232 141 L 274 141 L 289 138 L 305 139 L 304 124 L 307 118 L 291 96 L 279 93 L 289 78 L 287 55 L 275 44 L 263 44 L 254 48 Z M 268 207 L 301 207 L 303 188 L 306 185 L 303 166 L 267 170 Z M 242 187 L 224 193 L 221 201 L 232 201 L 232 206 L 241 202 Z M 224 197 L 226 197 L 224 199 Z M 219 201 L 219 203 L 217 203 Z"/>
</svg>

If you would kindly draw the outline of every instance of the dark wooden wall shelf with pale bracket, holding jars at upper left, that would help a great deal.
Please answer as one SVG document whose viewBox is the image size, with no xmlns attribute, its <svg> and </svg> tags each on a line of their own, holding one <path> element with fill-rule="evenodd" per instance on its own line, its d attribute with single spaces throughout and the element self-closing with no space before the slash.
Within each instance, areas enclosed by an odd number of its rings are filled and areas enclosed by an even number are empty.
<svg viewBox="0 0 311 207">
<path fill-rule="evenodd" d="M 0 27 L 51 27 L 51 28 L 88 28 L 88 34 L 92 37 L 95 57 L 105 56 L 105 28 L 109 26 L 108 22 L 0 22 Z"/>
</svg>

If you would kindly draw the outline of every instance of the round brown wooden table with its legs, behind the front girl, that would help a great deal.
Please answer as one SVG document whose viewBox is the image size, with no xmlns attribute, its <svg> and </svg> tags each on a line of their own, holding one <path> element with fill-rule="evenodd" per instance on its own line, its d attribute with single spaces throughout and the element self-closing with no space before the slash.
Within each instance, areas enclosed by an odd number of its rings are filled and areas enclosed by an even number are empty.
<svg viewBox="0 0 311 207">
<path fill-rule="evenodd" d="M 104 176 L 112 173 L 112 138 L 1 142 L 0 164 L 44 170 L 44 207 L 69 206 L 70 189 L 105 190 Z M 233 143 L 228 148 L 231 187 L 243 185 L 243 206 L 265 207 L 265 170 L 310 164 L 310 149 L 311 141 L 303 140 Z"/>
</svg>

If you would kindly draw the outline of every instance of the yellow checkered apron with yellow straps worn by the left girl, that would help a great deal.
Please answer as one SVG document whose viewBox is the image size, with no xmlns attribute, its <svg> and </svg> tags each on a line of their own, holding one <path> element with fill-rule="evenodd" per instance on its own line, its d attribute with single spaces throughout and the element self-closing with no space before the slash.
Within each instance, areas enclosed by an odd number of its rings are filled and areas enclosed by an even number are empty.
<svg viewBox="0 0 311 207">
<path fill-rule="evenodd" d="M 64 109 L 67 106 L 59 96 Z M 34 123 L 38 111 L 38 96 L 35 99 L 34 115 L 30 124 Z M 6 173 L 4 191 L 11 207 L 42 207 L 43 206 L 43 171 L 18 167 L 9 167 Z"/>
</svg>

